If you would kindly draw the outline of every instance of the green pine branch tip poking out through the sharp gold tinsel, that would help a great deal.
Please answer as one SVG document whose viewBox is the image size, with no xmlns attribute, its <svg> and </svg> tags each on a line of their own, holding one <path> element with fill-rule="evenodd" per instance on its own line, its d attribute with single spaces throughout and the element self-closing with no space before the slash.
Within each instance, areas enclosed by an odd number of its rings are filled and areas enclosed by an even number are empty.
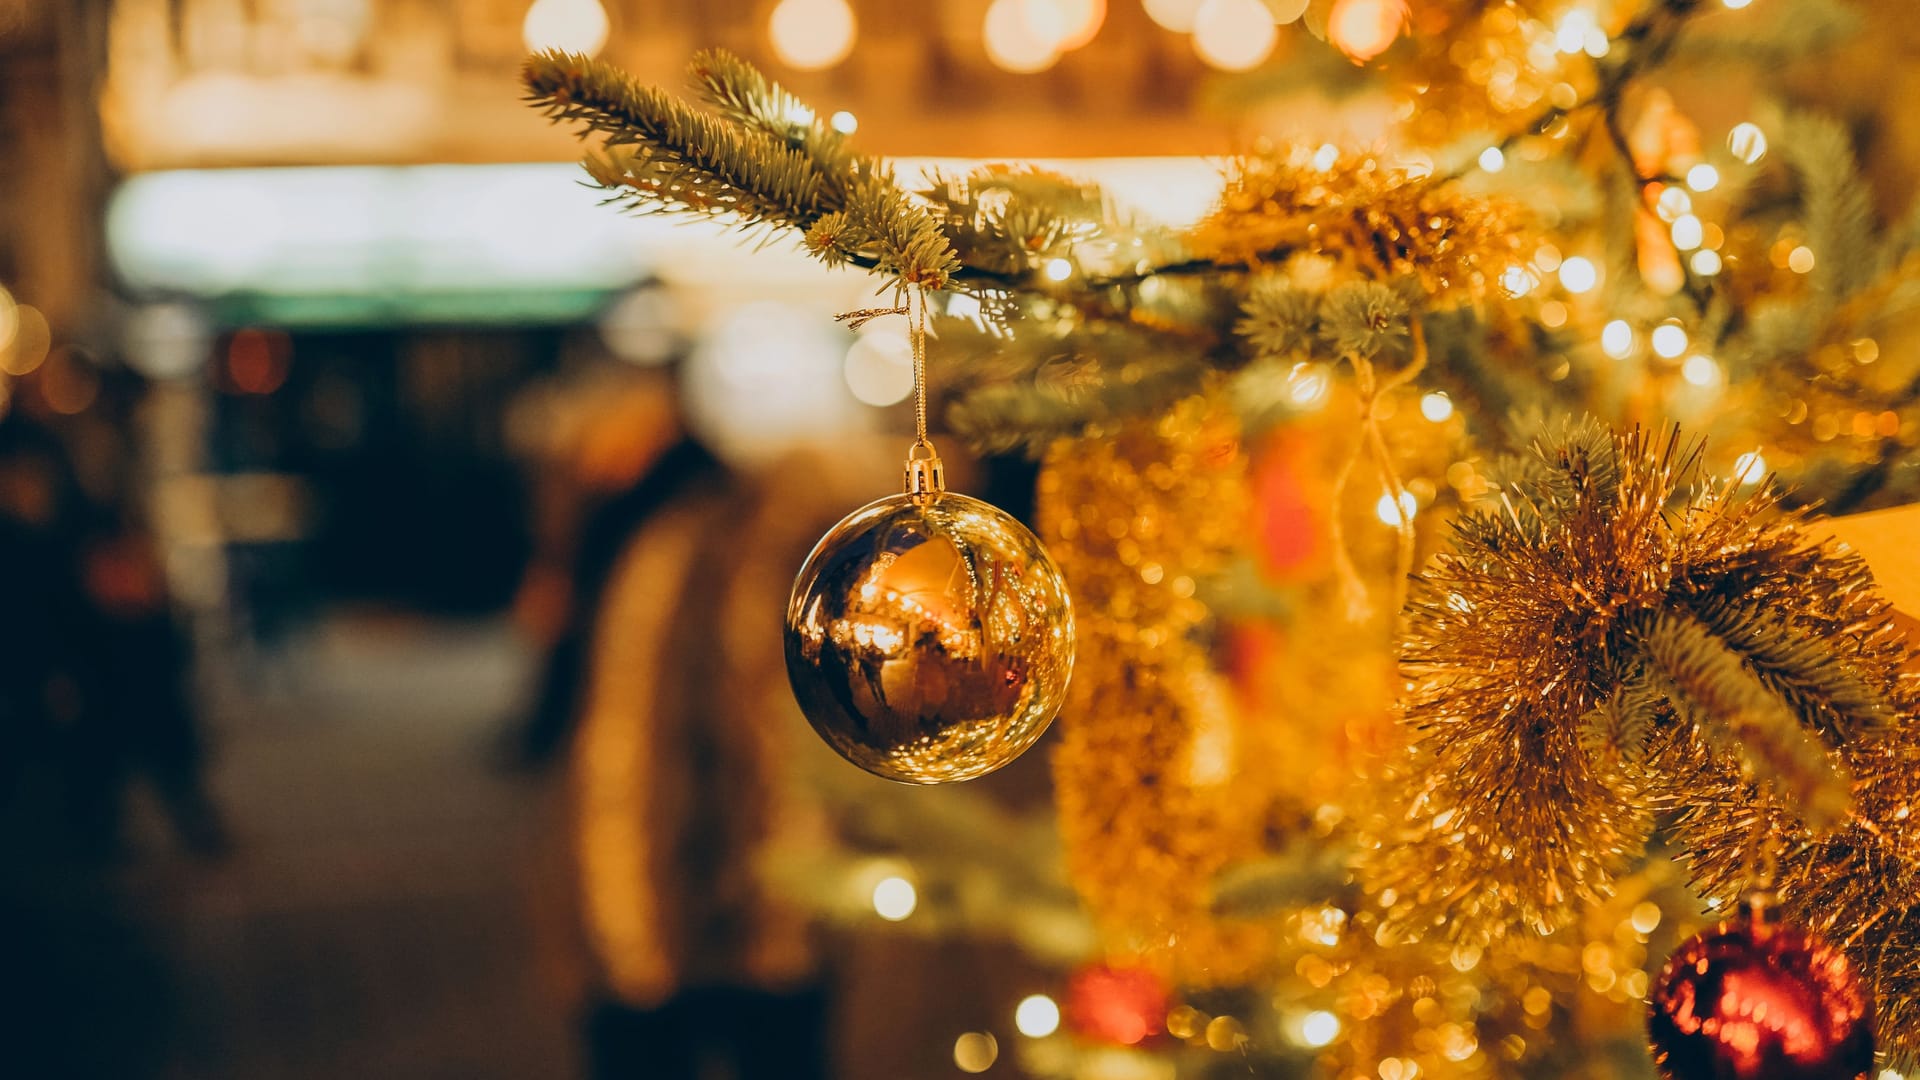
<svg viewBox="0 0 1920 1080">
<path fill-rule="evenodd" d="M 1824 828 L 1847 815 L 1845 769 L 1713 630 L 1663 611 L 1640 636 L 1640 651 L 1707 744 L 1772 784 L 1807 824 Z"/>
</svg>

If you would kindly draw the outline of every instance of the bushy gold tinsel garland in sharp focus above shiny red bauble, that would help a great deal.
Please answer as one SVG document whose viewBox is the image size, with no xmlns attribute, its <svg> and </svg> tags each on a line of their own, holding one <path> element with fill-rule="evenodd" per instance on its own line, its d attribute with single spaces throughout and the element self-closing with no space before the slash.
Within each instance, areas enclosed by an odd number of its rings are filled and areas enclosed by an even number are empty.
<svg viewBox="0 0 1920 1080">
<path fill-rule="evenodd" d="M 1572 427 L 1467 513 L 1409 609 L 1396 824 L 1365 853 L 1407 936 L 1501 942 L 1603 903 L 1659 815 L 1718 903 L 1772 886 L 1920 1051 L 1920 684 L 1866 565 L 1709 486 L 1676 432 Z"/>
</svg>

